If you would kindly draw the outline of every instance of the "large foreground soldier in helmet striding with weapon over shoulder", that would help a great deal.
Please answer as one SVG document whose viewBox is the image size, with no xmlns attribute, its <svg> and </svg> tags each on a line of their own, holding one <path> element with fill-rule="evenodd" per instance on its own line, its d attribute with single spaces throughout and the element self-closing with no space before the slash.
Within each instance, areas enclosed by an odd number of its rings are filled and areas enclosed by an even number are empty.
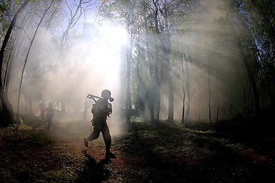
<svg viewBox="0 0 275 183">
<path fill-rule="evenodd" d="M 89 99 L 94 99 L 94 95 L 88 95 Z M 105 147 L 106 147 L 106 158 L 115 158 L 115 154 L 111 153 L 111 135 L 109 131 L 109 127 L 107 125 L 107 117 L 112 112 L 112 105 L 108 102 L 113 101 L 111 98 L 111 92 L 109 90 L 103 90 L 101 93 L 100 99 L 96 101 L 94 106 L 91 108 L 91 113 L 94 114 L 94 118 L 91 120 L 92 125 L 94 126 L 94 131 L 87 138 L 83 138 L 84 145 L 88 147 L 89 141 L 93 141 L 98 138 L 100 132 L 102 133 Z"/>
</svg>

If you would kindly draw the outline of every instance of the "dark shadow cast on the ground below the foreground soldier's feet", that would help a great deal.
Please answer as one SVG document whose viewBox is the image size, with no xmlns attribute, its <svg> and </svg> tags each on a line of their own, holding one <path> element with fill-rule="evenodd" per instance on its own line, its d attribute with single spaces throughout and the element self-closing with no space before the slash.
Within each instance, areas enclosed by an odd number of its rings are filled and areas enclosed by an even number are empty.
<svg viewBox="0 0 275 183">
<path fill-rule="evenodd" d="M 87 150 L 82 152 L 87 157 L 87 160 L 85 161 L 83 171 L 78 173 L 76 182 L 102 182 L 108 180 L 110 171 L 106 168 L 105 164 L 108 164 L 111 160 L 104 159 L 96 162 L 93 157 L 87 154 Z"/>
</svg>

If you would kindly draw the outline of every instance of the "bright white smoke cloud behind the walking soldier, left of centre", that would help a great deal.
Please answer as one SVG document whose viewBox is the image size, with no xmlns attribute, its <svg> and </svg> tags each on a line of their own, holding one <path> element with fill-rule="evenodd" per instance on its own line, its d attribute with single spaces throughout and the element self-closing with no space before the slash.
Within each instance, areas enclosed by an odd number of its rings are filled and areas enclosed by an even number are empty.
<svg viewBox="0 0 275 183">
<path fill-rule="evenodd" d="M 100 96 L 102 90 L 108 89 L 115 99 L 111 119 L 114 118 L 113 116 L 118 114 L 116 105 L 120 93 L 120 49 L 124 44 L 122 41 L 125 41 L 123 29 L 112 27 L 107 22 L 100 27 L 87 23 L 85 27 L 71 30 L 64 49 L 58 45 L 58 35 L 53 36 L 42 27 L 39 30 L 23 75 L 19 113 L 33 112 L 39 117 L 39 103 L 43 100 L 54 104 L 56 119 L 63 113 L 63 118 L 81 120 L 86 96 L 89 93 Z M 14 109 L 17 108 L 25 50 L 30 47 L 26 34 L 19 39 L 23 41 L 17 42 L 20 45 L 16 46 L 21 52 L 13 52 L 15 59 L 12 60 L 9 82 L 9 98 Z M 94 101 L 88 99 L 87 120 L 91 119 L 93 103 Z"/>
</svg>

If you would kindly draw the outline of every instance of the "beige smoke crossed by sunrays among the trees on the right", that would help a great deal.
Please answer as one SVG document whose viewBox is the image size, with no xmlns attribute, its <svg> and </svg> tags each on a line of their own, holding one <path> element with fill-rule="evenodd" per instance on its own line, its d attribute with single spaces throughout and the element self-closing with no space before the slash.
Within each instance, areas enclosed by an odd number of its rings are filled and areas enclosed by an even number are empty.
<svg viewBox="0 0 275 183">
<path fill-rule="evenodd" d="M 173 108 L 177 121 L 182 117 L 184 92 L 187 120 L 209 121 L 210 115 L 212 121 L 218 117 L 219 120 L 230 118 L 232 103 L 236 103 L 236 112 L 242 105 L 241 82 L 245 73 L 232 36 L 230 3 L 199 1 L 199 8 L 188 14 L 184 24 L 171 34 L 171 71 L 167 71 L 173 76 L 168 82 L 174 85 Z M 160 88 L 160 119 L 168 117 L 168 87 L 163 83 Z"/>
</svg>

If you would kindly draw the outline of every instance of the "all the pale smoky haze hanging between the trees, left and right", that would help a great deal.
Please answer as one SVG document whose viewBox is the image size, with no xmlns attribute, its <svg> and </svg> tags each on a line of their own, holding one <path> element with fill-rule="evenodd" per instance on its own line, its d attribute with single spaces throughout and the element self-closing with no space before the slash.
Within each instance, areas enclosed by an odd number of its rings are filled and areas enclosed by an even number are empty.
<svg viewBox="0 0 275 183">
<path fill-rule="evenodd" d="M 243 77 L 243 64 L 239 62 L 239 53 L 236 45 L 230 40 L 232 27 L 225 23 L 217 23 L 222 17 L 227 16 L 227 8 L 222 7 L 227 3 L 217 1 L 201 1 L 202 12 L 198 10 L 186 19 L 185 27 L 180 27 L 181 34 L 172 37 L 170 69 L 173 71 L 174 84 L 174 118 L 181 120 L 182 99 L 185 90 L 186 108 L 188 108 L 188 119 L 208 120 L 209 118 L 209 84 L 212 108 L 212 115 L 219 110 L 221 118 L 229 117 L 230 103 L 238 101 L 242 93 L 239 86 L 239 78 Z M 224 10 L 224 11 L 223 11 Z M 111 90 L 113 101 L 113 114 L 109 121 L 124 121 L 122 109 L 125 105 L 126 86 L 125 58 L 126 48 L 129 47 L 129 32 L 125 25 L 118 25 L 111 20 L 97 23 L 95 17 L 90 14 L 83 16 L 80 23 L 70 29 L 67 37 L 67 45 L 61 47 L 60 29 L 54 31 L 39 28 L 36 35 L 28 62 L 23 75 L 21 101 L 19 106 L 20 114 L 33 114 L 40 116 L 39 103 L 52 102 L 56 112 L 56 119 L 82 120 L 85 111 L 85 100 L 88 101 L 87 121 L 91 119 L 91 105 L 94 103 L 87 99 L 87 95 L 100 96 L 104 89 Z M 100 19 L 100 18 L 98 18 Z M 103 19 L 102 19 L 103 20 Z M 58 22 L 58 21 L 56 21 Z M 61 23 L 63 25 L 65 23 Z M 19 82 L 25 60 L 26 50 L 30 45 L 32 29 L 35 21 L 29 23 L 25 31 L 19 34 L 14 43 L 12 60 L 10 64 L 11 76 L 9 79 L 9 99 L 14 109 L 17 108 Z M 63 25 L 64 26 L 64 25 Z M 58 26 L 57 26 L 58 27 Z M 61 26 L 62 27 L 62 26 Z M 58 29 L 58 28 L 56 28 Z M 128 30 L 129 31 L 129 30 Z M 156 35 L 151 35 L 151 37 Z M 228 39 L 228 40 L 226 40 Z M 140 38 L 142 42 L 142 37 Z M 145 40 L 145 37 L 144 37 Z M 145 43 L 139 43 L 145 47 Z M 151 41 L 149 45 L 154 46 L 159 42 Z M 133 106 L 137 97 L 137 41 L 133 42 L 133 59 L 131 63 L 131 100 Z M 181 61 L 177 54 L 184 50 L 184 59 Z M 159 63 L 159 60 L 153 60 Z M 155 64 L 154 63 L 154 64 Z M 210 63 L 210 64 L 209 64 Z M 148 67 L 146 61 L 140 63 L 140 67 Z M 210 68 L 210 73 L 208 68 Z M 182 74 L 182 69 L 184 74 Z M 144 72 L 144 73 L 142 73 Z M 144 84 L 153 86 L 151 80 L 146 80 L 148 73 L 140 71 L 144 77 Z M 209 76 L 210 75 L 210 76 Z M 184 78 L 184 79 L 183 79 Z M 184 90 L 183 86 L 184 84 Z M 232 90 L 232 86 L 235 86 Z M 159 119 L 167 119 L 168 115 L 168 86 L 160 86 Z M 32 107 L 30 107 L 30 100 Z M 145 103 L 148 101 L 145 101 Z M 236 111 L 238 111 L 236 103 Z M 188 106 L 188 107 L 187 107 Z M 31 108 L 31 110 L 30 110 Z M 134 108 L 134 107 L 133 107 Z M 142 114 L 143 120 L 149 119 L 148 107 Z M 155 112 L 156 114 L 157 112 Z"/>
</svg>

